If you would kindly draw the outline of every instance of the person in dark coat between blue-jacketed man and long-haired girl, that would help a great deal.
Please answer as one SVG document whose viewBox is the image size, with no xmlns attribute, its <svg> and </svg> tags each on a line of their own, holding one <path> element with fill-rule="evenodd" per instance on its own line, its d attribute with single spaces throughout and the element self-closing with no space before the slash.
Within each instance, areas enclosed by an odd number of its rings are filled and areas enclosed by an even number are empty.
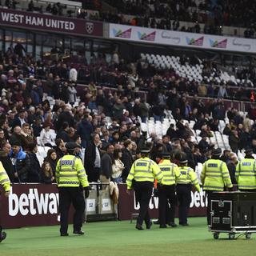
<svg viewBox="0 0 256 256">
<path fill-rule="evenodd" d="M 36 153 L 38 152 L 38 146 L 34 142 L 30 142 L 27 148 L 27 154 L 30 157 L 30 169 L 27 176 L 27 182 L 39 183 L 41 182 L 41 167 L 38 161 Z"/>
</svg>

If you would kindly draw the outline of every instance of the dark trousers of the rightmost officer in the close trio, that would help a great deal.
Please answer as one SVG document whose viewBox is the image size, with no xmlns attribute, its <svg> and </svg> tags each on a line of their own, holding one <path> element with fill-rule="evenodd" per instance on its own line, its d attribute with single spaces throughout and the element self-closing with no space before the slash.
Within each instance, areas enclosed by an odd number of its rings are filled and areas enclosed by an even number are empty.
<svg viewBox="0 0 256 256">
<path fill-rule="evenodd" d="M 178 198 L 178 219 L 179 224 L 187 223 L 187 214 L 190 210 L 191 202 L 191 185 L 177 184 L 177 198 Z"/>
</svg>

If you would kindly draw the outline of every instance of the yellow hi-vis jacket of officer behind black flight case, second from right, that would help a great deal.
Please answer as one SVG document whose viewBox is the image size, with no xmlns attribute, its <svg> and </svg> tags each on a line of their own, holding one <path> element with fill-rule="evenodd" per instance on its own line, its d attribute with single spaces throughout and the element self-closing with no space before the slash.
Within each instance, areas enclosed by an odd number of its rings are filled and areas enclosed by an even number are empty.
<svg viewBox="0 0 256 256">
<path fill-rule="evenodd" d="M 204 190 L 223 191 L 224 186 L 233 187 L 226 162 L 207 160 L 202 167 L 201 181 Z"/>
</svg>

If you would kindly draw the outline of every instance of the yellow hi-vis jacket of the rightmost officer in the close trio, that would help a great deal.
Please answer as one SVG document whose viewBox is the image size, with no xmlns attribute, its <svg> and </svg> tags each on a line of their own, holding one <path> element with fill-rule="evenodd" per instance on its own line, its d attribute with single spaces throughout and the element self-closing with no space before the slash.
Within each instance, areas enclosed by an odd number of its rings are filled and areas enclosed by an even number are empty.
<svg viewBox="0 0 256 256">
<path fill-rule="evenodd" d="M 189 166 L 179 167 L 178 170 L 181 173 L 181 176 L 177 178 L 177 184 L 193 184 L 196 190 L 200 192 L 200 186 L 198 182 L 198 178 L 194 173 L 194 170 Z"/>
</svg>

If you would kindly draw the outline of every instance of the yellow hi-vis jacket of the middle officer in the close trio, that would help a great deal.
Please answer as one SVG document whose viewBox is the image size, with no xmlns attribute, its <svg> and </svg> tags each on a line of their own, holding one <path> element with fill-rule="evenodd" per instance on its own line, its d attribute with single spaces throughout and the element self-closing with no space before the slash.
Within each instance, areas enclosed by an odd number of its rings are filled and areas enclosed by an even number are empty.
<svg viewBox="0 0 256 256">
<path fill-rule="evenodd" d="M 181 175 L 178 170 L 178 166 L 170 162 L 168 159 L 163 159 L 158 166 L 162 171 L 162 185 L 174 185 L 176 183 L 176 179 Z"/>
</svg>

